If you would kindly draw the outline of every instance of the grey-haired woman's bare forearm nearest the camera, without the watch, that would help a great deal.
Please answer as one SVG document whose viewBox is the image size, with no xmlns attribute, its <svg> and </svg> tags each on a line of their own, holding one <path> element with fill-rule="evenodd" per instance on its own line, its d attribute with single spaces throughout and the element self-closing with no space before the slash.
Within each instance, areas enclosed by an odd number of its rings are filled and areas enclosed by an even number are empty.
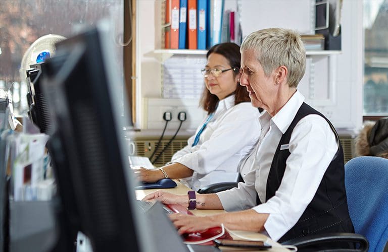
<svg viewBox="0 0 388 252">
<path fill-rule="evenodd" d="M 259 214 L 249 209 L 232 213 L 223 213 L 209 216 L 214 223 L 221 224 L 231 230 L 245 230 L 252 232 L 264 231 L 264 224 L 269 214 Z"/>
</svg>

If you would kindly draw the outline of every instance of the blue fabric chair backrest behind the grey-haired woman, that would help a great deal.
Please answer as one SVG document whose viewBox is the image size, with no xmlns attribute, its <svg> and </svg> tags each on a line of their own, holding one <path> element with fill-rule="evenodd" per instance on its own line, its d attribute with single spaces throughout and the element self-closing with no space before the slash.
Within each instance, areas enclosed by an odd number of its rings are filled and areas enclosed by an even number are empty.
<svg viewBox="0 0 388 252">
<path fill-rule="evenodd" d="M 383 251 L 388 241 L 388 159 L 357 157 L 345 165 L 349 214 L 369 251 Z"/>
</svg>

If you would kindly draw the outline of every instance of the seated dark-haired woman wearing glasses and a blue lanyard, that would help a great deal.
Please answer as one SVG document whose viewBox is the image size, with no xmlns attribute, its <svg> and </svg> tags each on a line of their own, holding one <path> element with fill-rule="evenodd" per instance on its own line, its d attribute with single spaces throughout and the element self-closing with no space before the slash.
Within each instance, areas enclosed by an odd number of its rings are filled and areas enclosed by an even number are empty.
<svg viewBox="0 0 388 252">
<path fill-rule="evenodd" d="M 235 182 L 238 164 L 255 146 L 259 110 L 239 85 L 241 54 L 234 43 L 221 43 L 208 51 L 202 107 L 208 112 L 187 146 L 175 153 L 171 164 L 155 170 L 140 168 L 138 179 L 155 182 L 181 178 L 193 190 L 218 182 Z"/>
</svg>

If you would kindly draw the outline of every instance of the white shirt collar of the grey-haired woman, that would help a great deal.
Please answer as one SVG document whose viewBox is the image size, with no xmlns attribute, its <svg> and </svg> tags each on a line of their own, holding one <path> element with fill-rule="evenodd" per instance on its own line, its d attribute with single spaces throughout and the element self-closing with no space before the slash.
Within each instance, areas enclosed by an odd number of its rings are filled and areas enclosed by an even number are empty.
<svg viewBox="0 0 388 252">
<path fill-rule="evenodd" d="M 304 100 L 305 97 L 297 90 L 272 118 L 268 112 L 264 112 L 260 116 L 260 123 L 263 125 L 265 121 L 272 120 L 281 133 L 284 134 L 294 120 Z"/>
</svg>

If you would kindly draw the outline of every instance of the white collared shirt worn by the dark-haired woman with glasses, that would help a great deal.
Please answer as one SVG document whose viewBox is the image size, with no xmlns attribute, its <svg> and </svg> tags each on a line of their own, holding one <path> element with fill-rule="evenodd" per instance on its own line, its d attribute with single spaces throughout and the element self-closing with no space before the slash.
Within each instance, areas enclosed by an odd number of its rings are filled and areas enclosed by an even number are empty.
<svg viewBox="0 0 388 252">
<path fill-rule="evenodd" d="M 252 151 L 260 134 L 259 110 L 250 102 L 234 105 L 234 95 L 219 101 L 196 146 L 191 146 L 207 116 L 187 146 L 176 152 L 172 162 L 194 171 L 183 183 L 198 191 L 218 182 L 237 181 L 239 162 Z"/>
</svg>

